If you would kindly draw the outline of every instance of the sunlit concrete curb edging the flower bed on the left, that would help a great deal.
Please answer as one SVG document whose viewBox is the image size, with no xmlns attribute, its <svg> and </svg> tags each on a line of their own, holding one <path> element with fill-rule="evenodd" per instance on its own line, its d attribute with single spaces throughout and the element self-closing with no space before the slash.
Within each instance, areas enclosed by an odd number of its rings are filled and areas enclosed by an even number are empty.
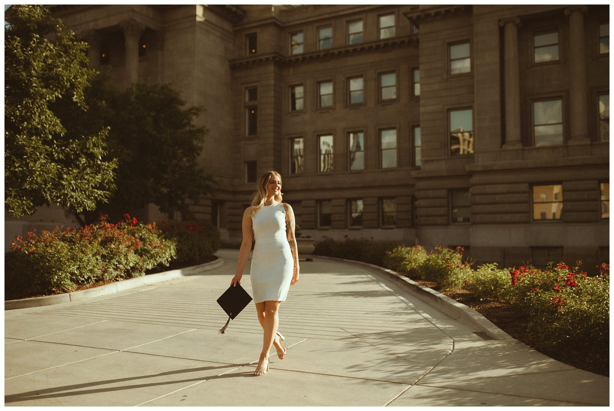
<svg viewBox="0 0 614 411">
<path fill-rule="evenodd" d="M 128 278 L 128 280 L 112 282 L 94 288 L 87 288 L 87 290 L 72 291 L 72 293 L 55 294 L 53 296 L 4 301 L 4 309 L 16 310 L 31 307 L 42 307 L 43 305 L 62 304 L 63 302 L 81 301 L 88 298 L 106 296 L 107 294 L 119 293 L 120 291 L 131 290 L 132 288 L 137 288 L 143 285 L 153 285 L 155 283 L 173 280 L 173 278 L 200 274 L 201 272 L 209 271 L 222 266 L 222 264 L 224 264 L 224 259 L 218 257 L 215 261 L 210 261 L 209 263 L 200 264 L 198 266 L 185 267 L 177 270 L 143 275 L 141 277 Z"/>
</svg>

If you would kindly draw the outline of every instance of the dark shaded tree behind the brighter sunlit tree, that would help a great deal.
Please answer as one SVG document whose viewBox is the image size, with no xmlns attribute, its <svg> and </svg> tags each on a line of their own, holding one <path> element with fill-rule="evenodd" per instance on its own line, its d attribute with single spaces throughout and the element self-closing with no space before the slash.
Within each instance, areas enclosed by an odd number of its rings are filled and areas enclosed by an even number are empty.
<svg viewBox="0 0 614 411">
<path fill-rule="evenodd" d="M 84 223 L 99 213 L 119 220 L 124 213 L 138 215 L 147 204 L 163 213 L 180 212 L 194 218 L 190 202 L 211 194 L 217 182 L 197 163 L 203 150 L 206 128 L 193 120 L 201 107 L 184 107 L 178 91 L 164 83 L 138 82 L 120 90 L 103 72 L 86 91 L 91 109 L 87 113 L 65 113 L 71 129 L 109 126 L 109 157 L 118 158 L 117 190 L 108 204 L 98 202 L 95 212 L 85 212 Z M 78 217 L 78 216 L 77 216 Z"/>
</svg>

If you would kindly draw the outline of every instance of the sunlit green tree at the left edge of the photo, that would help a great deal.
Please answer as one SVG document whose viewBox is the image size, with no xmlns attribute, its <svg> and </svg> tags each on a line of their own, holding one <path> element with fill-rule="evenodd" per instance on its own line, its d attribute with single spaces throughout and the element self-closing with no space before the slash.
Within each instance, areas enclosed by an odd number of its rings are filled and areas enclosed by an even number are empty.
<svg viewBox="0 0 614 411">
<path fill-rule="evenodd" d="M 43 204 L 68 212 L 93 210 L 114 190 L 117 161 L 109 158 L 108 130 L 67 133 L 56 115 L 85 112 L 87 44 L 40 6 L 14 6 L 4 29 L 4 182 L 7 211 L 29 215 Z"/>
</svg>

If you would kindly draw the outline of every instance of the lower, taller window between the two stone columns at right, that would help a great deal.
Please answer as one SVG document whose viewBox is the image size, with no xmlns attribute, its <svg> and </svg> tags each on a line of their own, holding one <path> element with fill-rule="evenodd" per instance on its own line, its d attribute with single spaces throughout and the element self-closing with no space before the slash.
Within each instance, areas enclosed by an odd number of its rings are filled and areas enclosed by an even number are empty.
<svg viewBox="0 0 614 411">
<path fill-rule="evenodd" d="M 562 100 L 533 103 L 533 134 L 535 145 L 563 144 Z"/>
</svg>

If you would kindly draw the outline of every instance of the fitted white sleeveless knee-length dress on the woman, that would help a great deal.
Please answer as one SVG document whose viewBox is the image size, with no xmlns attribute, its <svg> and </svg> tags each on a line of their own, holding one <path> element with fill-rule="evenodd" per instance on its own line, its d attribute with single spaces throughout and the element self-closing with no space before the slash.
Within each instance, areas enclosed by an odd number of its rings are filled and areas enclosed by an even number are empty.
<svg viewBox="0 0 614 411">
<path fill-rule="evenodd" d="M 254 302 L 286 301 L 294 261 L 286 237 L 286 210 L 281 202 L 262 206 L 252 218 L 254 253 L 249 277 Z"/>
</svg>

